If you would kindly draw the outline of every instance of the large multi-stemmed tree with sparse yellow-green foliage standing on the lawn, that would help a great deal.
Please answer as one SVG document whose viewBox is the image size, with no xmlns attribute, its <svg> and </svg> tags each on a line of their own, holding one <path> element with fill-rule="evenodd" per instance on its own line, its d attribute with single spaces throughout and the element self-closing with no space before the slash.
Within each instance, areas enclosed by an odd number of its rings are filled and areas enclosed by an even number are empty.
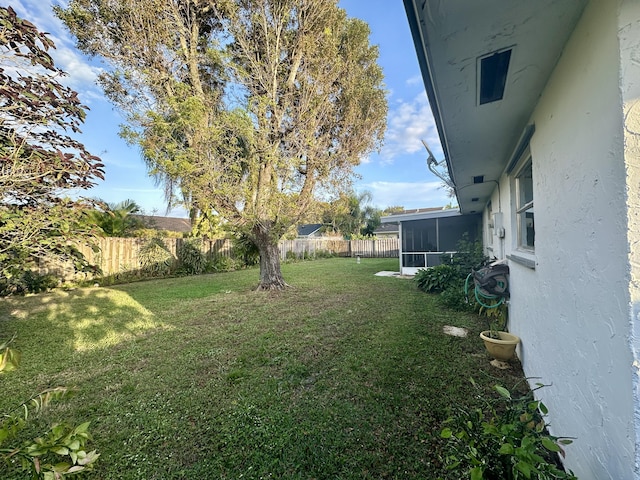
<svg viewBox="0 0 640 480">
<path fill-rule="evenodd" d="M 57 13 L 112 64 L 105 93 L 169 198 L 223 217 L 259 248 L 260 288 L 284 287 L 278 240 L 382 141 L 367 25 L 336 0 L 72 0 Z"/>
</svg>

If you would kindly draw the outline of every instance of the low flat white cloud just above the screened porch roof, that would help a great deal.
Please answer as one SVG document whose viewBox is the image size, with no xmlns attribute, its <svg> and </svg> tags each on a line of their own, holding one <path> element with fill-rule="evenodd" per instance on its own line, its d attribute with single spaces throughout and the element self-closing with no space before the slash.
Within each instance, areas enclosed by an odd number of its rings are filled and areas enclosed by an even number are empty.
<svg viewBox="0 0 640 480">
<path fill-rule="evenodd" d="M 455 203 L 441 182 L 370 182 L 358 185 L 371 192 L 377 208 L 402 205 L 410 208 L 442 207 Z"/>
</svg>

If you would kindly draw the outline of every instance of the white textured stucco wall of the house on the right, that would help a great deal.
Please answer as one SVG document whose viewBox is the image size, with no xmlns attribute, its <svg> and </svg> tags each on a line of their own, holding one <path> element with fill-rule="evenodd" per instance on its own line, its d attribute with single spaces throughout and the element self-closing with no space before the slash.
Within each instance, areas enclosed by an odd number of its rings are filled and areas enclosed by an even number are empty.
<svg viewBox="0 0 640 480">
<path fill-rule="evenodd" d="M 567 43 L 531 118 L 535 268 L 509 262 L 510 330 L 581 480 L 640 479 L 639 5 L 593 0 Z M 513 258 L 507 176 L 499 191 L 491 253 Z"/>
</svg>

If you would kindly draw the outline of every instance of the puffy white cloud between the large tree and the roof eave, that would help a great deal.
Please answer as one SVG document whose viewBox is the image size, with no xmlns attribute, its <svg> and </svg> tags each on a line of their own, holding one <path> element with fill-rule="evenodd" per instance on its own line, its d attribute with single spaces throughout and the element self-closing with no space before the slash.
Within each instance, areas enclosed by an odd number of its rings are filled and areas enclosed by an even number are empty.
<svg viewBox="0 0 640 480">
<path fill-rule="evenodd" d="M 424 150 L 422 139 L 436 157 L 442 156 L 440 139 L 424 91 L 411 101 L 399 100 L 389 109 L 385 145 L 381 152 L 382 162 L 390 164 L 400 155 Z"/>
</svg>

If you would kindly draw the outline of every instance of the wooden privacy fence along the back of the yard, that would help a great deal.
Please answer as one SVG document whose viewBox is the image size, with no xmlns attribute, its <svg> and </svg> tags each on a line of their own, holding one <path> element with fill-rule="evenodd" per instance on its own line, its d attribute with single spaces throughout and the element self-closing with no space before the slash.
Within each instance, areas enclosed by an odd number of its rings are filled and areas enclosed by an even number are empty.
<svg viewBox="0 0 640 480">
<path fill-rule="evenodd" d="M 100 267 L 104 275 L 123 273 L 140 268 L 140 249 L 146 245 L 148 238 L 100 238 L 96 242 L 98 252 L 87 246 L 80 246 L 79 250 L 90 263 Z M 183 242 L 190 241 L 182 238 L 163 238 L 162 241 L 174 258 Z M 363 258 L 397 258 L 398 239 L 384 238 L 378 240 L 342 240 L 331 237 L 310 239 L 282 240 L 279 243 L 280 258 L 313 257 L 320 253 L 330 253 L 341 257 Z M 210 260 L 219 257 L 234 258 L 233 244 L 229 239 L 202 240 L 202 252 Z M 40 273 L 55 273 L 63 278 L 73 276 L 70 266 L 41 265 Z"/>
</svg>

